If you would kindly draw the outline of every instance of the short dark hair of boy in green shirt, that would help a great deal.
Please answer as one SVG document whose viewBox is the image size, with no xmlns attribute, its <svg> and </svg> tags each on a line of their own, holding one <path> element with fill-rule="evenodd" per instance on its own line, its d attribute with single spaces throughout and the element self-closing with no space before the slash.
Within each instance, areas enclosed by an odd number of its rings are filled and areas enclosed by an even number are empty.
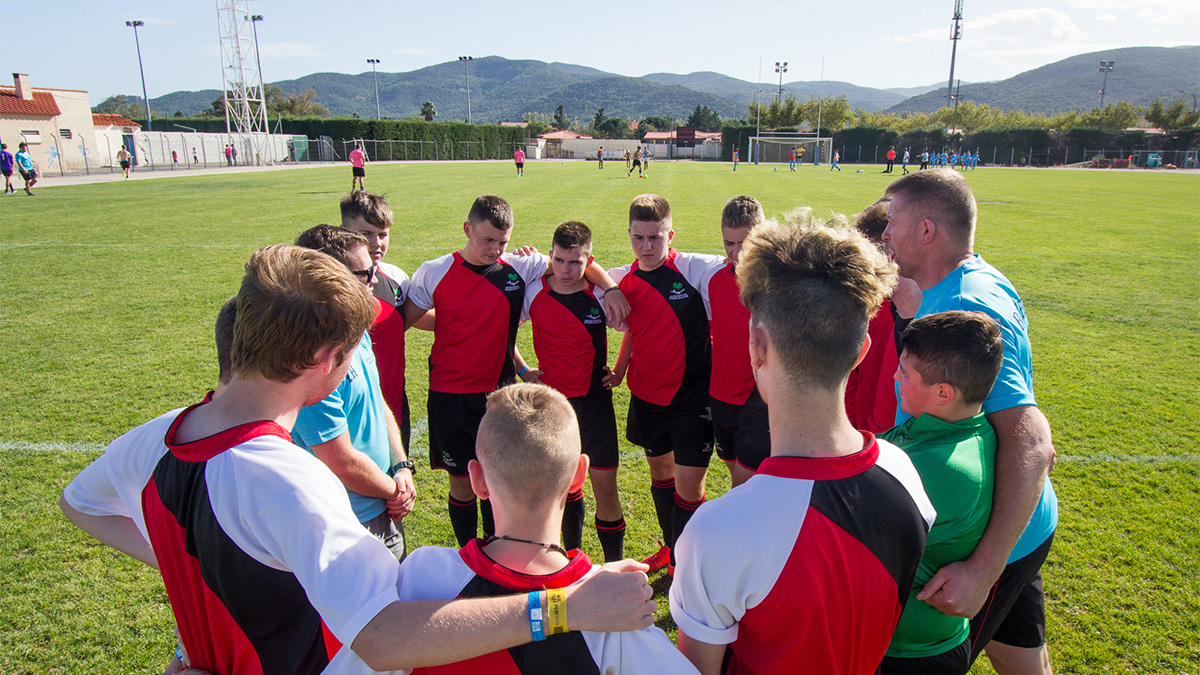
<svg viewBox="0 0 1200 675">
<path fill-rule="evenodd" d="M 968 404 L 982 404 L 1004 362 L 1000 324 L 983 312 L 948 311 L 923 316 L 900 338 L 900 352 L 916 359 L 925 384 L 947 382 Z"/>
</svg>

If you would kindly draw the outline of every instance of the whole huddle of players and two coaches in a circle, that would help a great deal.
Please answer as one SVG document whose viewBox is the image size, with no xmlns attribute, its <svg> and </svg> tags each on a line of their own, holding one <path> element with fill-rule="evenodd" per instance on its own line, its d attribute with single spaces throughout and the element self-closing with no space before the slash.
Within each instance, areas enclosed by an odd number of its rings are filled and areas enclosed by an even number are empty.
<svg viewBox="0 0 1200 675">
<path fill-rule="evenodd" d="M 462 249 L 409 279 L 383 262 L 386 203 L 353 192 L 342 227 L 247 262 L 217 390 L 114 441 L 60 503 L 161 571 L 175 668 L 966 673 L 986 649 L 1002 674 L 1049 671 L 1054 448 L 970 189 L 918 172 L 853 226 L 792 220 L 734 197 L 725 255 L 682 252 L 668 202 L 641 195 L 634 261 L 605 270 L 577 221 L 546 256 L 508 252 L 512 209 L 485 195 Z M 457 550 L 407 554 L 413 328 L 433 331 Z M 662 533 L 642 563 L 622 560 L 622 383 Z M 714 450 L 733 489 L 706 503 Z M 588 480 L 604 566 L 580 550 Z M 662 567 L 678 646 L 652 626 Z"/>
</svg>

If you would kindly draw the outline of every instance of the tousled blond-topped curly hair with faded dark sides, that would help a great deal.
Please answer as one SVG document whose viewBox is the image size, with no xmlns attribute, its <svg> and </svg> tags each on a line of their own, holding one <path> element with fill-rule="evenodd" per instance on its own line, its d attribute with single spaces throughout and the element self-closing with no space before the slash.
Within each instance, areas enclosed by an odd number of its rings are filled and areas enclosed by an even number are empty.
<svg viewBox="0 0 1200 675">
<path fill-rule="evenodd" d="M 895 287 L 896 265 L 854 229 L 802 215 L 791 226 L 750 231 L 737 267 L 742 304 L 769 335 L 793 388 L 834 389 Z"/>
</svg>

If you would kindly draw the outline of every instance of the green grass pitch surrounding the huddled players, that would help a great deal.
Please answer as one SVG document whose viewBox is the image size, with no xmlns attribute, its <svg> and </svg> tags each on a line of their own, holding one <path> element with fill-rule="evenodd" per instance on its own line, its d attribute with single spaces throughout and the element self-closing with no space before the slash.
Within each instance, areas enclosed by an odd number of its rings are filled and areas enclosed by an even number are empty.
<svg viewBox="0 0 1200 675">
<path fill-rule="evenodd" d="M 656 162 L 637 180 L 617 163 L 601 172 L 532 162 L 518 180 L 505 162 L 373 165 L 367 187 L 389 196 L 396 226 L 386 259 L 409 273 L 461 245 L 470 201 L 484 192 L 512 203 L 515 244 L 545 250 L 554 225 L 582 220 L 596 232 L 598 259 L 616 265 L 631 259 L 625 213 L 640 192 L 671 201 L 678 249 L 720 252 L 719 214 L 732 196 L 757 197 L 769 216 L 800 205 L 854 213 L 890 178 L 844 166 L 733 173 Z M 157 573 L 71 527 L 58 495 L 104 443 L 210 388 L 212 321 L 242 263 L 259 246 L 336 222 L 348 173 L 170 178 L 0 199 L 0 674 L 166 664 L 174 640 Z M 1038 401 L 1060 456 L 1061 524 L 1045 567 L 1054 665 L 1195 675 L 1200 178 L 1039 169 L 967 178 L 979 201 L 976 247 L 1012 279 L 1030 315 Z M 415 422 L 430 339 L 409 335 Z M 521 345 L 533 352 L 528 328 Z M 618 413 L 626 400 L 620 392 Z M 452 545 L 444 478 L 420 471 L 416 482 L 410 545 Z M 634 557 L 658 537 L 648 483 L 637 452 L 623 446 Z M 710 498 L 728 488 L 724 466 L 714 464 L 709 483 Z M 594 532 L 584 549 L 601 557 Z M 655 587 L 660 625 L 671 628 L 665 577 Z"/>
</svg>

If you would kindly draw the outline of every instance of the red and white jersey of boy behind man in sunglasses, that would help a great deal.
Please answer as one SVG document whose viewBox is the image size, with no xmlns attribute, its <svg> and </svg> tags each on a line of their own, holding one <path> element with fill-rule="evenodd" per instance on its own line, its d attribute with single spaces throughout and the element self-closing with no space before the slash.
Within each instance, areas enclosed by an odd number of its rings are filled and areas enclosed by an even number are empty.
<svg viewBox="0 0 1200 675">
<path fill-rule="evenodd" d="M 404 299 L 408 298 L 408 275 L 398 267 L 380 262 L 376 271 L 374 297 L 379 313 L 371 325 L 371 347 L 379 369 L 383 400 L 400 419 L 404 407 Z"/>
</svg>

